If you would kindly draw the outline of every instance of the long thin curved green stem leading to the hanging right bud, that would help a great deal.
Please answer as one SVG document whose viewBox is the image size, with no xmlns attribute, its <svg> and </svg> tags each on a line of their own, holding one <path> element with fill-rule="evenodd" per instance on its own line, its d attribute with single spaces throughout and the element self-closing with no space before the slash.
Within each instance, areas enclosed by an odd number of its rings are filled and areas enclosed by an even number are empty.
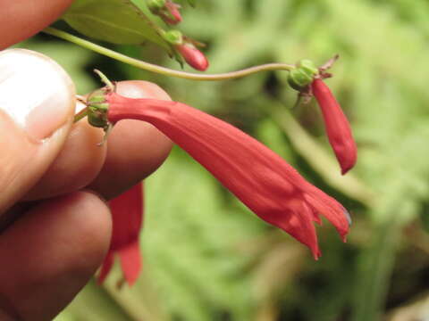
<svg viewBox="0 0 429 321">
<path fill-rule="evenodd" d="M 104 46 L 96 45 L 88 40 L 82 39 L 80 37 L 73 36 L 69 34 L 68 32 L 64 32 L 62 30 L 58 30 L 55 28 L 48 27 L 43 30 L 46 34 L 60 37 L 64 40 L 70 41 L 73 44 L 80 45 L 84 48 L 87 48 L 89 50 L 92 50 L 96 53 L 104 54 L 105 56 L 108 56 L 110 58 L 113 58 L 119 62 L 128 63 L 131 66 L 148 70 L 152 72 L 156 72 L 162 75 L 166 76 L 172 76 L 177 78 L 185 78 L 185 79 L 192 79 L 192 80 L 206 80 L 206 81 L 214 81 L 214 80 L 225 80 L 225 79 L 234 79 L 234 78 L 241 78 L 245 77 L 254 73 L 257 73 L 259 71 L 267 71 L 267 70 L 294 70 L 295 66 L 286 64 L 286 63 L 266 63 L 263 65 L 250 67 L 244 70 L 237 70 L 237 71 L 231 71 L 231 72 L 225 72 L 220 74 L 197 74 L 192 72 L 185 72 L 185 71 L 179 71 L 179 70 L 171 70 L 165 67 L 157 66 L 153 63 L 143 62 L 139 59 L 131 58 L 125 54 L 117 53 L 114 50 L 107 49 Z"/>
</svg>

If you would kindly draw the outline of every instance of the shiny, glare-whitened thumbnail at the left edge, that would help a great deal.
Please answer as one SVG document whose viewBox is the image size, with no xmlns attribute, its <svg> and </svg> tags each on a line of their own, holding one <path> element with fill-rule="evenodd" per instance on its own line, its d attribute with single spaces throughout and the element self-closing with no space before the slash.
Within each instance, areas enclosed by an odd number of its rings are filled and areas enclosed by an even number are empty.
<svg viewBox="0 0 429 321">
<path fill-rule="evenodd" d="M 0 52 L 0 111 L 29 137 L 44 139 L 61 128 L 74 110 L 75 89 L 63 68 L 41 53 Z"/>
</svg>

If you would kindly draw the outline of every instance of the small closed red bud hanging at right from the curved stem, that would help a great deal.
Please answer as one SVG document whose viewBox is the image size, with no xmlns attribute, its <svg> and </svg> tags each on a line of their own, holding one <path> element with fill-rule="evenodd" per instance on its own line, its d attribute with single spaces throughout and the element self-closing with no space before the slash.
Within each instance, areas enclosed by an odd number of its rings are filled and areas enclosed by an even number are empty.
<svg viewBox="0 0 429 321">
<path fill-rule="evenodd" d="M 322 79 L 315 78 L 311 89 L 324 115 L 329 143 L 340 163 L 341 174 L 344 175 L 355 166 L 357 160 L 356 143 L 351 134 L 349 121 Z"/>
</svg>

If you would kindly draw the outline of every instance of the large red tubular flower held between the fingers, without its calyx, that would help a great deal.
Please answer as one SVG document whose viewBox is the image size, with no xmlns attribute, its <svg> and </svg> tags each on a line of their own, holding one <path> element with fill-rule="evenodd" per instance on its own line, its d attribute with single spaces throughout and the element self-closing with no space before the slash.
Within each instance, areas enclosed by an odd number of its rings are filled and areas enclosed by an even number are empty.
<svg viewBox="0 0 429 321">
<path fill-rule="evenodd" d="M 257 216 L 306 244 L 315 259 L 321 255 L 313 224 L 320 223 L 319 214 L 345 239 L 349 214 L 341 204 L 238 128 L 183 103 L 132 99 L 115 93 L 105 97 L 110 122 L 140 119 L 158 128 Z"/>
</svg>

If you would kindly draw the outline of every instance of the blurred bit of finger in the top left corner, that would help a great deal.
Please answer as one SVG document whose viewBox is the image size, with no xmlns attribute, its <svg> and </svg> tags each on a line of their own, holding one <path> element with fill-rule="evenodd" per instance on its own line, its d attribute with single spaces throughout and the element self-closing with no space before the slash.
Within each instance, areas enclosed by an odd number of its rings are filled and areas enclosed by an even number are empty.
<svg viewBox="0 0 429 321">
<path fill-rule="evenodd" d="M 72 0 L 0 0 L 2 28 L 0 50 L 13 45 L 54 22 Z"/>
</svg>

